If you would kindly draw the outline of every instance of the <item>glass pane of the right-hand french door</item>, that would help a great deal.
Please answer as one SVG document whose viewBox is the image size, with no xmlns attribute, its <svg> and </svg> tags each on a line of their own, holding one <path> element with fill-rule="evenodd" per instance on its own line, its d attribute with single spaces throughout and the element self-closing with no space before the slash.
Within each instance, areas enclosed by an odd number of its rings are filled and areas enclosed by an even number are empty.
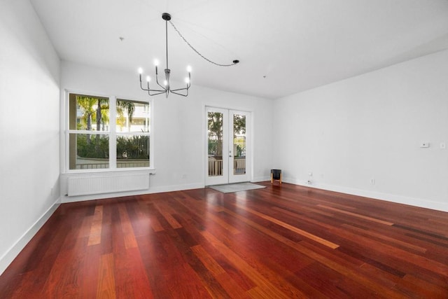
<svg viewBox="0 0 448 299">
<path fill-rule="evenodd" d="M 246 174 L 246 116 L 233 115 L 233 174 Z"/>
</svg>

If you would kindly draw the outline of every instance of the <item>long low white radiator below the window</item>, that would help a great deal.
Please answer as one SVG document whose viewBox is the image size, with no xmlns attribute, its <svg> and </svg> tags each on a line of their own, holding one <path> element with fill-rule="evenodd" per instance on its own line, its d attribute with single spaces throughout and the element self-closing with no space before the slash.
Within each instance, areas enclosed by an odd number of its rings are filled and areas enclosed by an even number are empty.
<svg viewBox="0 0 448 299">
<path fill-rule="evenodd" d="M 149 188 L 149 173 L 102 174 L 68 178 L 69 196 L 116 193 Z"/>
</svg>

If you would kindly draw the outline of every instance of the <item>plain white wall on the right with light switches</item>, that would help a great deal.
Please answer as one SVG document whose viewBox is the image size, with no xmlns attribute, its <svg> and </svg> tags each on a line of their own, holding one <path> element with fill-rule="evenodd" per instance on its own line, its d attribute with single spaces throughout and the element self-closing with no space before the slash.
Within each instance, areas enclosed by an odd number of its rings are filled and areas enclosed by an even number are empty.
<svg viewBox="0 0 448 299">
<path fill-rule="evenodd" d="M 448 50 L 277 99 L 274 111 L 285 181 L 448 211 Z"/>
</svg>

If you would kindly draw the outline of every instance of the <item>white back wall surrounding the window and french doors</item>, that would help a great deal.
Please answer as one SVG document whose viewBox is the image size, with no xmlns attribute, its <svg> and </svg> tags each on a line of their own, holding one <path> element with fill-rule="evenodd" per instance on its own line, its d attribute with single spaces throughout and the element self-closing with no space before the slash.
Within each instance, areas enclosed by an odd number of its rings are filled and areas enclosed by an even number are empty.
<svg viewBox="0 0 448 299">
<path fill-rule="evenodd" d="M 176 84 L 172 83 L 172 85 Z M 62 101 L 64 101 L 63 90 L 140 100 L 149 98 L 148 94 L 139 88 L 137 71 L 113 71 L 73 62 L 62 62 L 61 90 Z M 253 147 L 256 149 L 253 153 L 253 181 L 269 179 L 269 170 L 272 167 L 272 100 L 202 88 L 195 85 L 194 81 L 190 88 L 190 95 L 186 98 L 170 95 L 166 99 L 165 96 L 160 95 L 151 99 L 153 99 L 156 174 L 151 176 L 149 190 L 120 195 L 204 186 L 204 107 L 206 105 L 252 112 Z M 64 138 L 62 138 L 61 146 L 64 146 Z M 65 169 L 62 169 L 62 172 L 64 171 Z M 66 194 L 66 176 L 64 175 L 61 191 L 62 195 Z M 110 196 L 114 195 L 64 197 L 62 200 L 68 202 Z"/>
</svg>

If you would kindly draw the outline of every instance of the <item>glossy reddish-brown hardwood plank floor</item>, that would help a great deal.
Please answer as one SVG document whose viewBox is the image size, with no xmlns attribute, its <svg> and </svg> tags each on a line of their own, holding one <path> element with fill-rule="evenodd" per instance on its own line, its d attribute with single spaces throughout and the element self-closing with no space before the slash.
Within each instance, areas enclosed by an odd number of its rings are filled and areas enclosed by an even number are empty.
<svg viewBox="0 0 448 299">
<path fill-rule="evenodd" d="M 262 184 L 62 204 L 0 298 L 448 298 L 448 213 Z"/>
</svg>

